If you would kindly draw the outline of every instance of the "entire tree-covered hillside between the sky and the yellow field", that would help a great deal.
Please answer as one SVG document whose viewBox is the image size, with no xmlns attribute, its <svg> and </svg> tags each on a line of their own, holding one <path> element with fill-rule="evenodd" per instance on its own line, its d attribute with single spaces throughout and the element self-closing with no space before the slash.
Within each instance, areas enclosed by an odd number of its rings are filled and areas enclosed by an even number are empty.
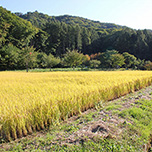
<svg viewBox="0 0 152 152">
<path fill-rule="evenodd" d="M 131 68 L 152 66 L 147 62 L 152 61 L 150 30 L 37 11 L 15 14 L 0 7 L 0 70 L 68 67 L 73 65 L 65 62 L 70 55 L 80 57 L 75 66 L 129 67 L 126 52 L 133 55 Z"/>
</svg>

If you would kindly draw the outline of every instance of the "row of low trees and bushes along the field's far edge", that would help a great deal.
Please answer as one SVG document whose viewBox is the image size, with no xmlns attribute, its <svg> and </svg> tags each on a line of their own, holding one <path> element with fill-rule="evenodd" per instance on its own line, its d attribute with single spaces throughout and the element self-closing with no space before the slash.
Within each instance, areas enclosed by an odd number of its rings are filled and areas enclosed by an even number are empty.
<svg viewBox="0 0 152 152">
<path fill-rule="evenodd" d="M 55 57 L 44 52 L 36 52 L 33 47 L 25 47 L 22 50 L 9 44 L 0 50 L 1 70 L 25 69 L 29 68 L 63 68 L 63 67 L 81 67 L 81 68 L 126 68 L 152 70 L 152 62 L 137 59 L 134 55 L 124 52 L 120 54 L 116 50 L 106 50 L 103 53 L 83 54 L 78 50 L 67 50 L 62 57 Z"/>
</svg>

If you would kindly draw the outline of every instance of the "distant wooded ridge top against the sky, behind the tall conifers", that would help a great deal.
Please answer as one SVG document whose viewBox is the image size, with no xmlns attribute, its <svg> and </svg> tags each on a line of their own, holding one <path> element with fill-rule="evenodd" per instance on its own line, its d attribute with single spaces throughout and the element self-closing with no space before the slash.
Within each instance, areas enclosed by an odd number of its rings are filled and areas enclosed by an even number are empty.
<svg viewBox="0 0 152 152">
<path fill-rule="evenodd" d="M 111 24 L 111 23 L 101 23 L 98 21 L 93 21 L 89 19 L 85 19 L 82 17 L 70 16 L 70 15 L 63 15 L 63 16 L 48 16 L 47 14 L 39 13 L 38 11 L 35 12 L 27 12 L 26 14 L 22 13 L 15 13 L 17 16 L 30 21 L 36 27 L 43 27 L 46 23 L 50 21 L 59 21 L 64 22 L 70 25 L 78 24 L 81 27 L 86 28 L 96 28 L 96 29 L 122 29 L 124 27 Z"/>
</svg>

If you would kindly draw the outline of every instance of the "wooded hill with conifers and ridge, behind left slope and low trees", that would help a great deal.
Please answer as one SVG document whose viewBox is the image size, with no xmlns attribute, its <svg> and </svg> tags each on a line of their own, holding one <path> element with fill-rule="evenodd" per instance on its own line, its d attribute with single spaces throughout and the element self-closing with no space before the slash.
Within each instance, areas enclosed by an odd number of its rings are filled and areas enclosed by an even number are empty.
<svg viewBox="0 0 152 152">
<path fill-rule="evenodd" d="M 152 60 L 151 30 L 133 30 L 112 23 L 101 23 L 70 15 L 48 16 L 37 11 L 15 14 L 52 35 L 49 41 L 55 43 L 49 48 L 57 50 L 58 55 L 64 53 L 66 48 L 79 49 L 85 54 L 115 49 L 121 53 L 129 52 L 140 59 Z M 59 43 L 54 39 L 59 39 Z"/>
</svg>

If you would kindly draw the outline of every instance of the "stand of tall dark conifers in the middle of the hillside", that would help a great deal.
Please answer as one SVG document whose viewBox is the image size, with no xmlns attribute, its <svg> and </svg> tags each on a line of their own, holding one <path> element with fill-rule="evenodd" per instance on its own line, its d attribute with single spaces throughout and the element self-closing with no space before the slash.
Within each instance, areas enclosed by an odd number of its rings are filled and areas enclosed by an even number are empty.
<svg viewBox="0 0 152 152">
<path fill-rule="evenodd" d="M 46 53 L 57 56 L 65 54 L 67 49 L 90 52 L 91 42 L 99 37 L 94 29 L 89 30 L 79 25 L 68 25 L 59 21 L 47 23 L 43 30 L 49 34 Z"/>
</svg>

